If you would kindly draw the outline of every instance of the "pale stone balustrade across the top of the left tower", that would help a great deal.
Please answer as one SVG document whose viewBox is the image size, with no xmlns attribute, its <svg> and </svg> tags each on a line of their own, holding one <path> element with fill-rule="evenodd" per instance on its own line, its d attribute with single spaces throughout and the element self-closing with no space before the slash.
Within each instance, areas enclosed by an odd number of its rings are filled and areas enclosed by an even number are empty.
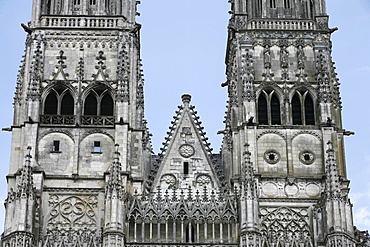
<svg viewBox="0 0 370 247">
<path fill-rule="evenodd" d="M 55 28 L 123 28 L 123 17 L 43 16 L 42 27 Z"/>
</svg>

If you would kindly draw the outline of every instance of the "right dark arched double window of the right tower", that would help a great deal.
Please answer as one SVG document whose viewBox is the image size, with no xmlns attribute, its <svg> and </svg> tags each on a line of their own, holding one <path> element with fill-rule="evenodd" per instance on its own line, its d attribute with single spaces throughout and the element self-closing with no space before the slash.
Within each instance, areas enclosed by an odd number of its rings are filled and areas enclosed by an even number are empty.
<svg viewBox="0 0 370 247">
<path fill-rule="evenodd" d="M 308 91 L 297 91 L 292 98 L 294 125 L 315 125 L 315 107 Z"/>
</svg>

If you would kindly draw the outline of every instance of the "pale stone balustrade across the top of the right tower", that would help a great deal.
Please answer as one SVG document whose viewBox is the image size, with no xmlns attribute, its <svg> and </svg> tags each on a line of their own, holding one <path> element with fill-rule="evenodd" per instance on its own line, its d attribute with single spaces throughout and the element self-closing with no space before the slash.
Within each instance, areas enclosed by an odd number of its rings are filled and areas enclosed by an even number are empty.
<svg viewBox="0 0 370 247">
<path fill-rule="evenodd" d="M 250 20 L 248 29 L 315 30 L 312 20 Z"/>
</svg>

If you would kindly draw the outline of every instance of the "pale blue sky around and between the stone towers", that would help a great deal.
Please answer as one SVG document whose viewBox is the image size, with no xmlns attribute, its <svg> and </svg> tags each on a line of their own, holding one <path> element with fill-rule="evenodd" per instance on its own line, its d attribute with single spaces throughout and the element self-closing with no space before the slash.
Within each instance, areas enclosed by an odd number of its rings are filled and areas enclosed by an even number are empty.
<svg viewBox="0 0 370 247">
<path fill-rule="evenodd" d="M 0 127 L 12 124 L 12 102 L 24 50 L 20 23 L 30 20 L 31 0 L 0 0 Z M 142 59 L 146 118 L 157 153 L 166 136 L 180 96 L 190 93 L 203 126 L 218 152 L 226 110 L 225 47 L 227 0 L 142 0 Z M 342 83 L 348 177 L 355 224 L 370 229 L 370 1 L 328 0 L 333 34 L 333 58 Z M 6 198 L 11 133 L 0 132 L 0 201 Z M 369 145 L 369 146 L 368 146 Z M 0 231 L 3 229 L 0 206 Z"/>
</svg>

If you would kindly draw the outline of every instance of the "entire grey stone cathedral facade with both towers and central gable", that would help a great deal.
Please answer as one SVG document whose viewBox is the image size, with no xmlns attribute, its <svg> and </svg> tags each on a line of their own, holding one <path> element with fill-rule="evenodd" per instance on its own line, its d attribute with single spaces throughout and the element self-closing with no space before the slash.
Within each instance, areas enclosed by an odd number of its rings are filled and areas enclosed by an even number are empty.
<svg viewBox="0 0 370 247">
<path fill-rule="evenodd" d="M 33 1 L 2 247 L 370 246 L 326 1 L 229 2 L 220 152 L 184 94 L 153 155 L 139 2 Z"/>
</svg>

